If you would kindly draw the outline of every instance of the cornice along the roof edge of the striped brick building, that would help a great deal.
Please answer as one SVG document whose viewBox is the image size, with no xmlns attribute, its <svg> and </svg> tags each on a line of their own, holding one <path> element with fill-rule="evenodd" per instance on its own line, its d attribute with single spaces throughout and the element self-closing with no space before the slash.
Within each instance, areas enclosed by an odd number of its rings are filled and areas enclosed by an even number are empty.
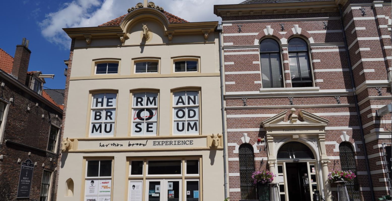
<svg viewBox="0 0 392 201">
<path fill-rule="evenodd" d="M 335 1 L 214 5 L 214 14 L 220 17 L 329 12 L 338 12 Z"/>
</svg>

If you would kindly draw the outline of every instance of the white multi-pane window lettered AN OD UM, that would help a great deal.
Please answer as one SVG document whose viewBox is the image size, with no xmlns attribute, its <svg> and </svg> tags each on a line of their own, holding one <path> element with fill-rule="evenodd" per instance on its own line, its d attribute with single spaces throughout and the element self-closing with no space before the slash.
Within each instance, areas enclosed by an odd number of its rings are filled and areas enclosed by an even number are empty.
<svg viewBox="0 0 392 201">
<path fill-rule="evenodd" d="M 198 134 L 199 92 L 175 92 L 173 100 L 174 134 Z"/>
</svg>

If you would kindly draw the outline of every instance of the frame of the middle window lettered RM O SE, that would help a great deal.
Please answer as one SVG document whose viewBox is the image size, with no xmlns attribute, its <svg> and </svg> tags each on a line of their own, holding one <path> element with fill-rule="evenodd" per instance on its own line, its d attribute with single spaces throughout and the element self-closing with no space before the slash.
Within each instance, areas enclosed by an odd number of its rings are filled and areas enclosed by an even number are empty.
<svg viewBox="0 0 392 201">
<path fill-rule="evenodd" d="M 133 131 L 133 99 L 134 99 L 134 94 L 135 93 L 156 93 L 157 94 L 157 106 L 156 106 L 156 134 L 154 135 L 134 135 Z M 158 89 L 135 89 L 135 90 L 130 90 L 130 101 L 129 101 L 129 117 L 128 119 L 131 120 L 129 124 L 129 136 L 159 136 L 159 109 L 160 109 L 160 90 Z M 139 108 L 140 106 L 138 106 Z M 140 107 L 142 108 L 142 107 Z M 143 108 L 155 108 L 155 107 L 143 107 Z"/>
</svg>

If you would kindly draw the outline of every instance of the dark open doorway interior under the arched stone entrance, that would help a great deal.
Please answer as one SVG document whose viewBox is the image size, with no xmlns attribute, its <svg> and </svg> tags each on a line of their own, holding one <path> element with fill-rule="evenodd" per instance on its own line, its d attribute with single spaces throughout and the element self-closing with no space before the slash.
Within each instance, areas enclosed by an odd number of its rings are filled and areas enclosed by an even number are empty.
<svg viewBox="0 0 392 201">
<path fill-rule="evenodd" d="M 303 176 L 308 173 L 307 163 L 286 163 L 287 191 L 289 201 L 310 201 L 309 182 L 305 184 Z"/>
</svg>

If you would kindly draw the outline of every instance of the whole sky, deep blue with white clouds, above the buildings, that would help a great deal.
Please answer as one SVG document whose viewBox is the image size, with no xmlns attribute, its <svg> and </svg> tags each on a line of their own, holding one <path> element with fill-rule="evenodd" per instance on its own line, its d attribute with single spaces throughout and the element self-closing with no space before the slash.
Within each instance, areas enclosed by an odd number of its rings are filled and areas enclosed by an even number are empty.
<svg viewBox="0 0 392 201">
<path fill-rule="evenodd" d="M 165 11 L 189 22 L 219 21 L 214 4 L 238 4 L 241 0 L 152 0 Z M 29 71 L 54 74 L 47 88 L 65 86 L 64 60 L 69 59 L 68 27 L 93 27 L 127 13 L 143 0 L 3 0 L 0 2 L 0 48 L 11 56 L 22 38 L 30 41 Z M 191 9 L 190 9 L 191 8 Z M 193 12 L 189 12 L 189 11 Z M 78 66 L 80 67 L 80 66 Z"/>
</svg>

